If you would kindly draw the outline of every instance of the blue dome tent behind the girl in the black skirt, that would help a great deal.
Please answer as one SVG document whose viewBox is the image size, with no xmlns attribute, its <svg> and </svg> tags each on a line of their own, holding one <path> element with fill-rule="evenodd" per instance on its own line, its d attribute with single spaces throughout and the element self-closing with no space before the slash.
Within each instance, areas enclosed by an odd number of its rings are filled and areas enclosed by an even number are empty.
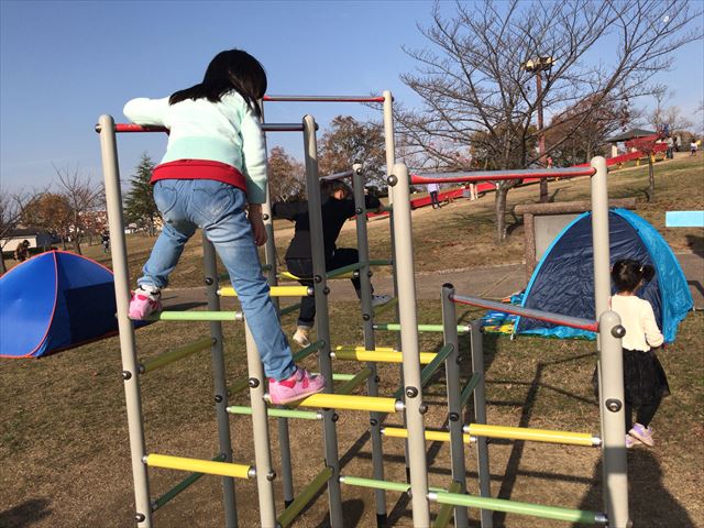
<svg viewBox="0 0 704 528">
<path fill-rule="evenodd" d="M 609 210 L 608 226 L 612 264 L 635 258 L 656 268 L 654 278 L 638 290 L 638 296 L 650 301 L 666 342 L 673 342 L 678 324 L 694 306 L 674 253 L 650 223 L 631 211 Z M 595 319 L 591 212 L 574 219 L 548 248 L 528 283 L 521 306 Z M 595 339 L 594 332 L 524 317 L 516 319 L 514 333 Z"/>
</svg>

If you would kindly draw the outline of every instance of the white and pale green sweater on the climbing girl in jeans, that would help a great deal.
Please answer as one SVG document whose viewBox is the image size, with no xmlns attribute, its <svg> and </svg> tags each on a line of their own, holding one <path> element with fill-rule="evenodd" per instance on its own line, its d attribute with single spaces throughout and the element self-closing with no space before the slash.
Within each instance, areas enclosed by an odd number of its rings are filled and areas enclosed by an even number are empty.
<svg viewBox="0 0 704 528">
<path fill-rule="evenodd" d="M 250 204 L 266 200 L 266 148 L 258 118 L 237 91 L 219 102 L 186 99 L 176 105 L 163 99 L 138 98 L 124 106 L 124 116 L 136 124 L 169 130 L 162 163 L 209 160 L 226 163 L 246 179 Z"/>
</svg>

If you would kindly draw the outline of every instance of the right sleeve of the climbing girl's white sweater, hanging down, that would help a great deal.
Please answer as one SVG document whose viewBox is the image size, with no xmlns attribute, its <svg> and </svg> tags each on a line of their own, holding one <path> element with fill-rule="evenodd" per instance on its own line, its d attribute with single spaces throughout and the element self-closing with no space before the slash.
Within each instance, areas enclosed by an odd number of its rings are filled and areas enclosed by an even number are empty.
<svg viewBox="0 0 704 528">
<path fill-rule="evenodd" d="M 242 114 L 242 156 L 246 177 L 246 196 L 251 204 L 266 201 L 266 147 L 258 118 L 248 107 Z"/>
</svg>

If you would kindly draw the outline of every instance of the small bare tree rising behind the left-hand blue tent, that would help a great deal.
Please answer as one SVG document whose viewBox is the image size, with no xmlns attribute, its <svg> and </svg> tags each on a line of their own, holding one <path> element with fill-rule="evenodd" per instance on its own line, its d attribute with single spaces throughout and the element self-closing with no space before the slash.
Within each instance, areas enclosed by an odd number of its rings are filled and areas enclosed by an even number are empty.
<svg viewBox="0 0 704 528">
<path fill-rule="evenodd" d="M 80 255 L 80 242 L 85 231 L 84 219 L 96 207 L 105 207 L 105 189 L 102 184 L 95 184 L 89 177 L 82 175 L 78 166 L 59 168 L 54 165 L 54 170 L 58 176 L 61 194 L 70 208 L 70 238 L 74 251 Z"/>
</svg>

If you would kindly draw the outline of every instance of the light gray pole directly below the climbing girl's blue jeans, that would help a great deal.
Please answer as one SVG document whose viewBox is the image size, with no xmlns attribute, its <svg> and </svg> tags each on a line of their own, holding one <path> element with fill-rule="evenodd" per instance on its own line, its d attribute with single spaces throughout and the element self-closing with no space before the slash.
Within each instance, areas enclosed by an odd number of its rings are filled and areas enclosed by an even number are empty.
<svg viewBox="0 0 704 528">
<path fill-rule="evenodd" d="M 246 340 L 246 363 L 250 385 L 250 403 L 252 406 L 252 430 L 254 433 L 254 461 L 256 466 L 256 490 L 260 499 L 261 526 L 276 526 L 273 481 L 276 474 L 272 470 L 272 453 L 268 438 L 268 418 L 264 393 L 268 381 L 264 376 L 264 367 L 260 352 L 244 321 Z"/>
</svg>

